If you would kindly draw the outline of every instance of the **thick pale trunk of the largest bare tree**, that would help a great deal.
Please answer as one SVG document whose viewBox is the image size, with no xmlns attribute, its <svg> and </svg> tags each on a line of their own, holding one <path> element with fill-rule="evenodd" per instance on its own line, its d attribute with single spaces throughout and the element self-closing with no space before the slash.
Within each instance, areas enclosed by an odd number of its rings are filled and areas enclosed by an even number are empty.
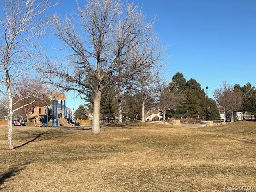
<svg viewBox="0 0 256 192">
<path fill-rule="evenodd" d="M 101 92 L 97 90 L 93 98 L 92 134 L 100 134 L 100 99 Z"/>
</svg>

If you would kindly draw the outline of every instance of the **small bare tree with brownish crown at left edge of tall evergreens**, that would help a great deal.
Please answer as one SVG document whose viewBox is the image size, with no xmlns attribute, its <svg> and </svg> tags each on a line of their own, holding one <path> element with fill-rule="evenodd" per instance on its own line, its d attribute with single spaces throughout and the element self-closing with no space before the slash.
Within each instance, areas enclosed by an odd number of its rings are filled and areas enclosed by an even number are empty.
<svg viewBox="0 0 256 192">
<path fill-rule="evenodd" d="M 180 94 L 177 94 L 175 90 L 175 83 L 167 86 L 163 84 L 163 88 L 160 90 L 159 108 L 163 112 L 163 122 L 165 122 L 166 111 L 173 110 L 178 106 Z"/>
</svg>

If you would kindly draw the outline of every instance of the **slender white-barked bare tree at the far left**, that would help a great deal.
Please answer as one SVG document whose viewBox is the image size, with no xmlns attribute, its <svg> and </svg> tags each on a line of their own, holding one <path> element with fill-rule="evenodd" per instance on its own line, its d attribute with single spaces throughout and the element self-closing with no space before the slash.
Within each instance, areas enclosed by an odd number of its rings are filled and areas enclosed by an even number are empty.
<svg viewBox="0 0 256 192">
<path fill-rule="evenodd" d="M 5 0 L 2 3 L 0 15 L 0 90 L 6 96 L 7 104 L 2 103 L 8 110 L 8 148 L 12 145 L 12 114 L 18 108 L 14 106 L 25 98 L 17 96 L 15 84 L 25 76 L 34 63 L 34 54 L 38 38 L 42 36 L 50 23 L 44 16 L 52 6 L 50 0 Z M 33 51 L 34 50 L 34 51 Z M 17 87 L 17 86 L 16 86 Z M 26 96 L 27 97 L 27 96 Z"/>
</svg>

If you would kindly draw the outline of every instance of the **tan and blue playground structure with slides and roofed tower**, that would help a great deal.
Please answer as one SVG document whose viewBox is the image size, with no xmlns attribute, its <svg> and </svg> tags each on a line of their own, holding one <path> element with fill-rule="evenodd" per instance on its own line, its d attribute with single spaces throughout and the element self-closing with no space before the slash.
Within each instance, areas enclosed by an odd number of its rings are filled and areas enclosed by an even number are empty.
<svg viewBox="0 0 256 192">
<path fill-rule="evenodd" d="M 58 104 L 60 104 L 59 107 Z M 63 105 L 64 108 L 62 109 Z M 50 120 L 52 126 L 72 126 L 70 124 L 70 109 L 66 110 L 66 95 L 63 93 L 54 94 L 52 106 L 35 107 L 34 112 L 28 116 L 28 120 L 34 122 L 35 126 L 48 127 Z"/>
</svg>

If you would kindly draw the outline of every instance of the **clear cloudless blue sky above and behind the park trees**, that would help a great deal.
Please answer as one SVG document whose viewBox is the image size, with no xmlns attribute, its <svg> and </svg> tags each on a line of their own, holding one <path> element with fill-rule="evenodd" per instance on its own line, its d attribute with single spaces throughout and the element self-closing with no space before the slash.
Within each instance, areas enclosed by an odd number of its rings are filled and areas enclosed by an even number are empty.
<svg viewBox="0 0 256 192">
<path fill-rule="evenodd" d="M 164 73 L 166 78 L 182 72 L 187 80 L 196 79 L 202 88 L 209 86 L 210 97 L 223 80 L 232 85 L 256 85 L 255 0 L 130 2 L 140 4 L 148 19 L 154 15 L 158 18 L 155 31 L 167 46 L 164 57 L 170 61 L 166 66 L 168 72 Z M 51 11 L 64 16 L 73 10 L 75 1 L 62 0 Z M 68 106 L 77 108 L 79 104 L 84 102 L 68 94 Z"/>
</svg>

